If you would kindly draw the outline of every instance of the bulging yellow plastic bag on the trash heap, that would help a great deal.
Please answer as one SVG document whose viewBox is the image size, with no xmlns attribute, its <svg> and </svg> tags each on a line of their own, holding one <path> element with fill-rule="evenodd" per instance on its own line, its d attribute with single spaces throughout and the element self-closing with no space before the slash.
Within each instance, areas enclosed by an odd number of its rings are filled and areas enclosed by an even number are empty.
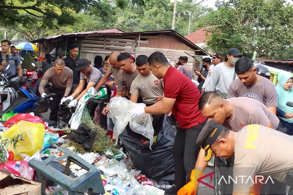
<svg viewBox="0 0 293 195">
<path fill-rule="evenodd" d="M 24 141 L 18 141 L 16 149 L 13 144 L 9 144 L 8 150 L 14 153 L 14 160 L 21 160 L 18 153 L 32 156 L 38 150 L 41 151 L 45 136 L 45 126 L 42 123 L 35 124 L 21 120 L 4 132 L 2 137 L 13 139 L 16 134 L 22 134 Z"/>
</svg>

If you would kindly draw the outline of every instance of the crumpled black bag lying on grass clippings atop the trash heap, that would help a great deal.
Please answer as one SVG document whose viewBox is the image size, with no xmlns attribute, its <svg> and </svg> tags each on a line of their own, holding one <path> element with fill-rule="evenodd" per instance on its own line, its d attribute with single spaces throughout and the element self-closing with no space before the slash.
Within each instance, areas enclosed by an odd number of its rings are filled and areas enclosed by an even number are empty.
<svg viewBox="0 0 293 195">
<path fill-rule="evenodd" d="M 77 129 L 71 130 L 68 138 L 84 146 L 86 149 L 91 149 L 95 142 L 97 131 L 92 130 L 82 122 Z"/>
</svg>

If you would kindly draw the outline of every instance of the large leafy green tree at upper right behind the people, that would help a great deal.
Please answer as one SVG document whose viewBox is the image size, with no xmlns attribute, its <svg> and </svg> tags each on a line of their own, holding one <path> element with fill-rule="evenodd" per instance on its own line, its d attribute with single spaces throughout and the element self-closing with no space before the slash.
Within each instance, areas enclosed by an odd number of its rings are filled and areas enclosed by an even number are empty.
<svg viewBox="0 0 293 195">
<path fill-rule="evenodd" d="M 218 8 L 208 30 L 208 45 L 226 54 L 238 48 L 244 56 L 293 58 L 293 7 L 285 0 L 232 0 Z"/>
</svg>

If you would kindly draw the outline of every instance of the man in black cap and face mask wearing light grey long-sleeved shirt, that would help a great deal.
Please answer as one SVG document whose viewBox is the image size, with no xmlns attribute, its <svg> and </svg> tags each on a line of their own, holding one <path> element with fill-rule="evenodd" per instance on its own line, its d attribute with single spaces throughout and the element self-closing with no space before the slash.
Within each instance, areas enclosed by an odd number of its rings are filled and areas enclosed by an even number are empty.
<svg viewBox="0 0 293 195">
<path fill-rule="evenodd" d="M 226 98 L 228 93 L 228 88 L 233 80 L 236 78 L 236 73 L 234 71 L 234 66 L 237 60 L 241 58 L 242 55 L 236 48 L 231 48 L 228 50 L 225 62 L 217 65 L 213 74 L 211 74 L 208 85 L 206 86 L 206 92 L 217 92 L 221 94 L 223 98 Z"/>
</svg>

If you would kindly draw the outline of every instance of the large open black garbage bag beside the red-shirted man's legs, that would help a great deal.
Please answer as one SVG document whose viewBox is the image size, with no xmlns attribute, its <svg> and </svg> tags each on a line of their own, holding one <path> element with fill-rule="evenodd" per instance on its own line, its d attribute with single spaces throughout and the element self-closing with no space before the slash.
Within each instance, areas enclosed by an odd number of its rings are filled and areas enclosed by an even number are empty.
<svg viewBox="0 0 293 195">
<path fill-rule="evenodd" d="M 166 116 L 162 129 L 151 146 L 152 150 L 149 149 L 149 144 L 143 144 L 141 140 L 129 136 L 126 130 L 119 135 L 119 139 L 130 153 L 134 166 L 147 177 L 160 180 L 161 177 L 175 172 L 172 153 L 175 134 Z"/>
</svg>

